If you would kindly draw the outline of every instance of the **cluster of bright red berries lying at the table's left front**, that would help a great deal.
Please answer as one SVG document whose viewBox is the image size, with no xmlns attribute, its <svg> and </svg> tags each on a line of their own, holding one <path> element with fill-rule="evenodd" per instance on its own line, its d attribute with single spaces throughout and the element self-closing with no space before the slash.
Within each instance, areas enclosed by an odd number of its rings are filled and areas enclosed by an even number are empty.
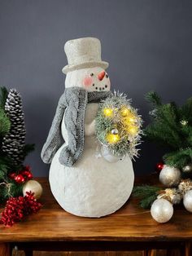
<svg viewBox="0 0 192 256">
<path fill-rule="evenodd" d="M 2 212 L 0 219 L 7 227 L 20 222 L 29 214 L 37 213 L 41 209 L 41 204 L 36 201 L 32 192 L 27 192 L 26 196 L 11 197 Z"/>
</svg>

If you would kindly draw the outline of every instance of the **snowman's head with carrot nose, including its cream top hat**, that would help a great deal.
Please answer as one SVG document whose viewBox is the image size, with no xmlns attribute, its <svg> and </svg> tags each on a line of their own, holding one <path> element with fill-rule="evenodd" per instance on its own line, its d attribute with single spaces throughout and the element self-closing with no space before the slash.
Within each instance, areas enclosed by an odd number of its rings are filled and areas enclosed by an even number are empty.
<svg viewBox="0 0 192 256">
<path fill-rule="evenodd" d="M 78 38 L 65 43 L 68 65 L 65 87 L 78 86 L 88 91 L 110 90 L 108 63 L 101 59 L 101 43 L 98 38 Z"/>
</svg>

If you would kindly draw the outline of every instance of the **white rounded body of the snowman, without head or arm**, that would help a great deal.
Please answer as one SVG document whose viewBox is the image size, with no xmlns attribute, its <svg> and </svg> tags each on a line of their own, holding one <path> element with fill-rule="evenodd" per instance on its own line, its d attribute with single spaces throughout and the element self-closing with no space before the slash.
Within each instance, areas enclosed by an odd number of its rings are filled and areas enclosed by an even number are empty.
<svg viewBox="0 0 192 256">
<path fill-rule="evenodd" d="M 85 123 L 91 123 L 98 104 L 89 104 Z M 66 130 L 62 126 L 65 137 Z M 72 167 L 59 163 L 59 151 L 50 166 L 50 188 L 59 205 L 85 217 L 101 217 L 120 209 L 133 189 L 133 165 L 129 157 L 116 163 L 96 157 L 95 136 L 85 136 L 83 156 Z M 64 147 L 64 145 L 63 145 Z"/>
</svg>

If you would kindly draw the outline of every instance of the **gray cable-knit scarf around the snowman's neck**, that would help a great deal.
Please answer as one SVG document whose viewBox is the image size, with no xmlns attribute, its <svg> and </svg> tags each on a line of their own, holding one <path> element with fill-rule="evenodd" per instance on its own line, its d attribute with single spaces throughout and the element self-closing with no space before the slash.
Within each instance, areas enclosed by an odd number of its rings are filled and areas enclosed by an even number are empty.
<svg viewBox="0 0 192 256">
<path fill-rule="evenodd" d="M 66 88 L 59 99 L 55 117 L 49 135 L 41 151 L 41 159 L 50 163 L 57 150 L 63 144 L 61 122 L 68 131 L 68 145 L 60 152 L 59 162 L 64 166 L 72 166 L 82 155 L 84 149 L 84 120 L 87 103 L 99 102 L 111 95 L 110 91 L 87 92 L 81 87 Z"/>
</svg>

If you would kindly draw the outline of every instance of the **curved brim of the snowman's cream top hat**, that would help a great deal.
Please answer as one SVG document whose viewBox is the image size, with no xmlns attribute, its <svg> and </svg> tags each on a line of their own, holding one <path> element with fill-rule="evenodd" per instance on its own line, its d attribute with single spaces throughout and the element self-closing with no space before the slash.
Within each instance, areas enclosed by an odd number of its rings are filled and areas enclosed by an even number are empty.
<svg viewBox="0 0 192 256">
<path fill-rule="evenodd" d="M 101 67 L 103 69 L 108 68 L 109 64 L 106 61 L 89 61 L 84 62 L 80 64 L 74 64 L 74 65 L 66 65 L 62 68 L 62 72 L 67 74 L 68 72 L 71 72 L 75 69 L 81 69 L 81 68 L 94 68 L 94 67 Z"/>
</svg>

